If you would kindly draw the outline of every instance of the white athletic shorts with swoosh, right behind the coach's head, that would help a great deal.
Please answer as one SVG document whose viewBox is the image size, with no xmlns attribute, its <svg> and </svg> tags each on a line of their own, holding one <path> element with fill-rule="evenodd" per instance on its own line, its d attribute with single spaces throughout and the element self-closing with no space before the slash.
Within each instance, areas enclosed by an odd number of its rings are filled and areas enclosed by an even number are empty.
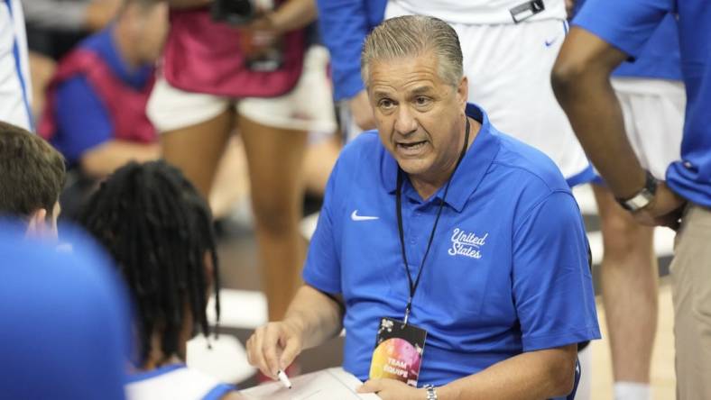
<svg viewBox="0 0 711 400">
<path fill-rule="evenodd" d="M 385 17 L 409 14 L 388 2 Z M 594 177 L 568 117 L 550 86 L 550 71 L 568 23 L 559 19 L 496 25 L 451 23 L 462 46 L 469 102 L 501 132 L 546 153 L 571 185 Z"/>
</svg>

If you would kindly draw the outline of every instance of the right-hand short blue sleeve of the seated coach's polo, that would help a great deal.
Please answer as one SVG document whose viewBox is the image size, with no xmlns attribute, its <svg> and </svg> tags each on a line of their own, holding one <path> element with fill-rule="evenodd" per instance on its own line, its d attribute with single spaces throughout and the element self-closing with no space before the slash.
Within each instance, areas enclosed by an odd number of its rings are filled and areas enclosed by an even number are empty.
<svg viewBox="0 0 711 400">
<path fill-rule="evenodd" d="M 599 339 L 582 216 L 555 191 L 533 205 L 513 234 L 513 297 L 524 351 Z"/>
</svg>

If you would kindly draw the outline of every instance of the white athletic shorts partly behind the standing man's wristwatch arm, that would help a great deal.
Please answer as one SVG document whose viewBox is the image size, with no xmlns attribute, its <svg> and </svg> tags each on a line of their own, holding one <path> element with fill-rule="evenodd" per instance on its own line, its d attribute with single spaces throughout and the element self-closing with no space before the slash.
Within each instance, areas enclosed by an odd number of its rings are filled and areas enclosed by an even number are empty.
<svg viewBox="0 0 711 400">
<path fill-rule="evenodd" d="M 681 159 L 687 94 L 680 81 L 614 77 L 627 139 L 643 168 L 664 179 L 672 161 Z"/>
</svg>

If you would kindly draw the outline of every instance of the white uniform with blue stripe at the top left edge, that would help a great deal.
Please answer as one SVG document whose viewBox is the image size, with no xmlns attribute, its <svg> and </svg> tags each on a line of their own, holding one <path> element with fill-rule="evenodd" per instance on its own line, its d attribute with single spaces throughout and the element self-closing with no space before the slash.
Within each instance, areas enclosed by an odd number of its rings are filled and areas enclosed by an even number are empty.
<svg viewBox="0 0 711 400">
<path fill-rule="evenodd" d="M 0 121 L 32 131 L 32 86 L 19 0 L 0 0 Z"/>
</svg>

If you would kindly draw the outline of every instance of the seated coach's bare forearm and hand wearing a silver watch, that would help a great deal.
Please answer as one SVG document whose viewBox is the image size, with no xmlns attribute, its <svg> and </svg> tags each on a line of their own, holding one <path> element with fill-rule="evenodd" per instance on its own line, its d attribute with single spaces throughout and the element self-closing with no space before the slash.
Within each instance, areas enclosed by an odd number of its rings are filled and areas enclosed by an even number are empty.
<svg viewBox="0 0 711 400">
<path fill-rule="evenodd" d="M 437 388 L 440 400 L 539 400 L 568 395 L 575 383 L 577 346 L 530 351 Z M 359 392 L 377 393 L 383 400 L 421 400 L 425 389 L 393 379 L 369 380 Z"/>
</svg>

